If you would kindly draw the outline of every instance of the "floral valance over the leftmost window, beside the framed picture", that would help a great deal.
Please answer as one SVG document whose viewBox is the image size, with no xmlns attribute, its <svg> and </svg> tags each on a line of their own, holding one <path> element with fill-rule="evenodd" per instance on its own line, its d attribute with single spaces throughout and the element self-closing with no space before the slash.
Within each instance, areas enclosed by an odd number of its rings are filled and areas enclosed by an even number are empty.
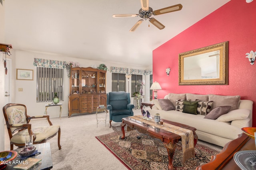
<svg viewBox="0 0 256 170">
<path fill-rule="evenodd" d="M 47 67 L 47 68 L 62 68 L 66 66 L 66 61 L 48 60 L 48 59 L 37 59 L 34 58 L 34 66 L 36 67 Z"/>
</svg>

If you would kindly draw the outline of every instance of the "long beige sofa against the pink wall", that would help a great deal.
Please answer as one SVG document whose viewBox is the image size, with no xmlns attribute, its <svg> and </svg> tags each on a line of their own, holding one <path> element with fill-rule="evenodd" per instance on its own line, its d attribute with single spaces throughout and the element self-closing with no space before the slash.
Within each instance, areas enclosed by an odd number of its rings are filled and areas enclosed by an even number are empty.
<svg viewBox="0 0 256 170">
<path fill-rule="evenodd" d="M 150 115 L 154 117 L 156 113 L 159 113 L 162 119 L 167 119 L 170 121 L 175 121 L 175 122 L 179 122 L 182 124 L 195 127 L 197 129 L 196 134 L 198 135 L 198 139 L 202 141 L 206 141 L 206 142 L 224 147 L 226 143 L 228 143 L 233 139 L 236 139 L 238 137 L 238 134 L 242 133 L 241 131 L 242 127 L 252 127 L 253 102 L 251 100 L 240 100 L 240 96 L 170 93 L 166 95 L 164 99 L 165 100 L 152 101 L 155 105 L 152 107 L 152 109 L 148 109 L 148 111 L 150 112 Z M 184 110 L 180 110 L 183 107 L 182 102 L 180 102 L 182 100 L 190 100 L 190 101 L 199 100 L 201 101 L 200 106 L 205 105 L 207 101 L 213 101 L 213 102 L 207 102 L 208 104 L 211 103 L 210 110 L 209 110 L 209 107 L 207 106 L 208 107 L 207 114 L 204 113 L 206 111 L 206 108 L 203 109 L 202 107 L 200 107 L 200 109 L 202 110 L 202 114 L 198 114 L 198 113 L 191 114 L 191 113 L 184 113 L 182 112 Z M 174 106 L 175 108 L 174 109 L 171 108 L 171 110 L 168 110 L 170 108 L 166 107 L 166 105 L 168 106 L 166 102 L 172 103 L 171 107 Z M 204 104 L 202 104 L 202 102 Z M 198 106 L 199 106 L 199 103 L 198 103 Z M 206 115 L 215 116 L 217 113 L 216 110 L 226 106 L 230 106 L 228 113 L 218 116 L 217 119 L 205 118 Z M 197 108 L 197 112 L 198 112 L 198 109 L 199 107 Z M 180 110 L 180 111 L 177 111 L 177 110 Z M 211 114 L 209 114 L 210 113 L 209 111 L 212 111 Z"/>
</svg>

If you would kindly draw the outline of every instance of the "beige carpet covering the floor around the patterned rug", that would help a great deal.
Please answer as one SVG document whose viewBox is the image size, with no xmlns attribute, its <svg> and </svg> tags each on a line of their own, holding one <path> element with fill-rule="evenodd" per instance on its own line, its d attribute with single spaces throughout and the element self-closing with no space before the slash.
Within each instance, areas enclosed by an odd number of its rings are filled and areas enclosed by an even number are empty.
<svg viewBox="0 0 256 170">
<path fill-rule="evenodd" d="M 134 110 L 134 115 L 140 115 L 140 110 Z M 125 170 L 127 169 L 111 152 L 108 151 L 95 137 L 112 133 L 109 128 L 109 114 L 105 127 L 104 122 L 96 124 L 95 114 L 72 115 L 70 118 L 51 118 L 54 125 L 61 126 L 62 149 L 58 150 L 58 137 L 50 139 L 53 170 Z M 30 121 L 32 127 L 47 125 L 45 119 Z M 120 123 L 113 122 L 113 126 Z M 5 127 L 5 150 L 10 150 L 10 141 Z M 205 143 L 198 142 L 205 145 Z M 208 145 L 221 150 L 221 147 Z"/>
</svg>

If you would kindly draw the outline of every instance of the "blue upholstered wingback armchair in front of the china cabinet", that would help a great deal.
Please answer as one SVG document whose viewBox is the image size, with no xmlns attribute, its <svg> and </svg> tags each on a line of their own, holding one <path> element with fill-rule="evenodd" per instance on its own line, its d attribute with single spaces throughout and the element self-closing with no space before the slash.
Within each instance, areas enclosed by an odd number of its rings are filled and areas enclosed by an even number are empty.
<svg viewBox="0 0 256 170">
<path fill-rule="evenodd" d="M 130 93 L 109 92 L 107 94 L 107 109 L 109 110 L 109 123 L 122 122 L 123 117 L 133 116 L 133 104 L 130 104 Z"/>
</svg>

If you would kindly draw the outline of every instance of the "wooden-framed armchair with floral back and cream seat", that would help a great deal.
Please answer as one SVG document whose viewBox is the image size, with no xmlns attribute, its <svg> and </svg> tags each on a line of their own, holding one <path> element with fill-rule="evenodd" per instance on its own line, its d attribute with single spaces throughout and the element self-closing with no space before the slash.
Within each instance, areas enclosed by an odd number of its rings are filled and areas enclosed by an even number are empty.
<svg viewBox="0 0 256 170">
<path fill-rule="evenodd" d="M 49 115 L 28 116 L 27 108 L 23 104 L 6 104 L 3 107 L 6 127 L 10 137 L 10 150 L 13 150 L 13 145 L 24 147 L 25 136 L 33 135 L 33 144 L 45 143 L 58 133 L 58 148 L 60 146 L 60 125 L 52 125 Z M 48 120 L 49 126 L 31 128 L 29 123 L 31 119 L 43 118 Z"/>
</svg>

